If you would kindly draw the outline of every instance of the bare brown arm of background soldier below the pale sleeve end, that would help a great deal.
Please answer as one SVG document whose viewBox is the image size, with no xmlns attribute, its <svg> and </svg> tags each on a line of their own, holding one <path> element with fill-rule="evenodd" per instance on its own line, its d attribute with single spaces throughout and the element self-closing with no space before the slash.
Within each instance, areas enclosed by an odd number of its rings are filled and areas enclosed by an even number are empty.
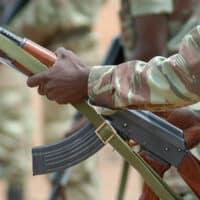
<svg viewBox="0 0 200 200">
<path fill-rule="evenodd" d="M 168 39 L 166 15 L 137 16 L 134 18 L 134 29 L 137 37 L 132 60 L 149 61 L 154 56 L 166 55 Z"/>
</svg>

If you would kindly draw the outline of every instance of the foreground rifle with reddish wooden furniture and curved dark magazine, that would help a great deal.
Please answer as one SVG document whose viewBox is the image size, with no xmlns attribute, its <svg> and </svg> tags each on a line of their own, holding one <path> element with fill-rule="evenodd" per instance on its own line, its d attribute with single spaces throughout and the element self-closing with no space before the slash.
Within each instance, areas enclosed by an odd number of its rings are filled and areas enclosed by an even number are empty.
<svg viewBox="0 0 200 200">
<path fill-rule="evenodd" d="M 47 66 L 53 65 L 56 61 L 54 53 L 28 39 L 18 37 L 3 28 L 0 29 L 0 35 L 3 35 L 4 39 L 6 37 L 6 40 L 13 41 L 28 54 L 33 55 Z M 114 41 L 113 46 L 113 49 L 119 53 L 120 45 L 118 39 Z M 12 60 L 6 54 L 10 49 L 6 49 L 6 47 L 1 47 L 0 45 L 0 50 L 2 53 L 2 62 L 17 68 L 27 75 L 37 73 L 37 70 L 34 71 L 34 68 L 31 71 L 26 68 L 29 65 L 26 61 L 22 65 L 21 63 L 19 64 L 19 61 Z M 118 54 L 116 53 L 116 55 Z M 142 157 L 160 176 L 163 175 L 169 166 L 175 166 L 182 178 L 200 198 L 200 162 L 188 151 L 189 148 L 199 143 L 199 140 L 197 141 L 199 134 L 192 134 L 191 137 L 187 136 L 184 138 L 181 129 L 148 111 L 123 110 L 103 117 L 117 130 L 121 138 L 124 140 L 133 139 L 145 148 L 145 151 L 141 152 Z M 92 119 L 90 118 L 90 120 Z M 94 121 L 93 123 L 95 124 Z M 69 168 L 85 160 L 104 146 L 104 136 L 109 143 L 115 145 L 116 140 L 112 140 L 115 136 L 112 135 L 112 137 L 108 138 L 107 135 L 103 136 L 105 131 L 104 126 L 109 129 L 107 124 L 104 123 L 101 124 L 98 130 L 95 130 L 95 127 L 89 124 L 59 143 L 33 148 L 34 175 Z M 103 132 L 102 129 L 104 130 Z M 101 136 L 101 139 L 103 138 L 104 142 L 97 137 L 95 132 Z M 186 144 L 193 145 L 186 146 Z M 119 149 L 117 150 L 119 151 Z M 123 148 L 123 151 L 125 150 L 126 147 Z M 150 171 L 153 172 L 152 170 Z M 145 181 L 148 182 L 147 179 Z M 148 182 L 148 186 L 144 186 L 144 193 L 140 198 L 141 200 L 157 199 L 157 196 L 150 190 L 149 186 L 153 188 Z M 155 188 L 154 192 L 157 192 Z M 179 198 L 174 197 L 173 199 Z"/>
</svg>

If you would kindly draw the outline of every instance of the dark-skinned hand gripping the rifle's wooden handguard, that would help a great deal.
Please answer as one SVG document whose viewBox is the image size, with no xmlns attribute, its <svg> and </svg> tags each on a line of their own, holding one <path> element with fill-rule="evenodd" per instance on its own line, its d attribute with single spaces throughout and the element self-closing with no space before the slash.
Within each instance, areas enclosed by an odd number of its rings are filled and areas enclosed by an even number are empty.
<svg viewBox="0 0 200 200">
<path fill-rule="evenodd" d="M 89 69 L 64 48 L 56 50 L 57 61 L 48 70 L 28 78 L 29 87 L 38 87 L 40 95 L 59 104 L 78 103 L 87 97 Z"/>
</svg>

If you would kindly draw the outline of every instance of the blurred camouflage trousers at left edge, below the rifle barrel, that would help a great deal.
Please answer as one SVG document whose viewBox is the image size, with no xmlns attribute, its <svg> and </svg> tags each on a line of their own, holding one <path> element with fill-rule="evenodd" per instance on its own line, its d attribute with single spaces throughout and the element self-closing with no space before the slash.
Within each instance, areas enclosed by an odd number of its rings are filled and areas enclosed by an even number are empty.
<svg viewBox="0 0 200 200">
<path fill-rule="evenodd" d="M 13 195 L 16 200 L 22 198 L 30 163 L 34 115 L 25 80 L 22 74 L 0 65 L 0 178 L 7 182 L 9 200 Z"/>
</svg>

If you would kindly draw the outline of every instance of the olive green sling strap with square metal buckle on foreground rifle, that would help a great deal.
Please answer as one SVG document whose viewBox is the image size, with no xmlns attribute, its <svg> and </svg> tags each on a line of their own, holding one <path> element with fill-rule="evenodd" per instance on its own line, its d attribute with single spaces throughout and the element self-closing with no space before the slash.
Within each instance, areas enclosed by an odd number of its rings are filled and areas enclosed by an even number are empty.
<svg viewBox="0 0 200 200">
<path fill-rule="evenodd" d="M 14 42 L 0 35 L 0 51 L 10 59 L 17 61 L 31 72 L 39 73 L 47 69 L 47 66 L 17 46 Z M 81 102 L 73 105 L 80 113 L 97 127 L 96 134 L 104 144 L 109 143 L 124 159 L 132 165 L 144 178 L 149 187 L 163 200 L 178 200 L 177 196 L 160 176 L 147 164 L 140 155 L 132 151 L 128 144 L 117 134 L 114 128 L 99 115 L 88 103 Z"/>
</svg>

